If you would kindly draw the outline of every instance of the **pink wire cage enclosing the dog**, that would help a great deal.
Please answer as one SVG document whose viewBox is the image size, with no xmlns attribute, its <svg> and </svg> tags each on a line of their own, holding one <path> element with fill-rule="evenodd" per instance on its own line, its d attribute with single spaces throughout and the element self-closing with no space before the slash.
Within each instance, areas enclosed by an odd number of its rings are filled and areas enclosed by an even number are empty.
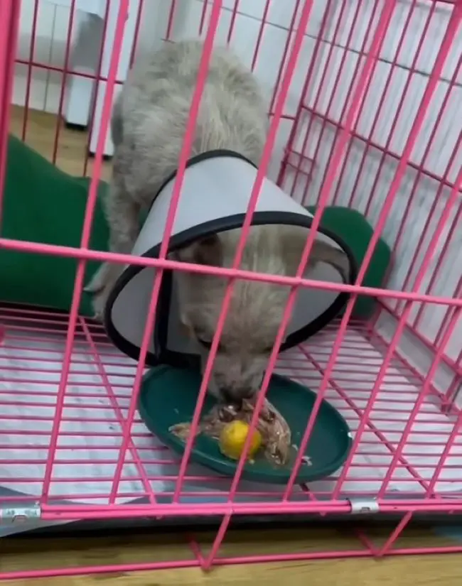
<svg viewBox="0 0 462 586">
<path fill-rule="evenodd" d="M 59 66 L 36 60 L 43 3 L 31 0 L 29 4 L 31 43 L 28 57 L 24 58 L 17 50 L 20 21 L 24 18 L 21 3 L 0 3 L 0 185 L 6 173 L 4 153 L 15 76 L 21 67 L 20 71 L 26 72 L 21 138 L 26 142 L 34 72 L 45 70 L 60 75 L 51 148 L 51 159 L 58 165 L 65 142 L 62 122 L 66 80 L 72 77 L 97 83 L 88 120 L 92 130 L 82 153 L 83 175 L 87 174 L 93 139 L 95 158 L 80 249 L 0 237 L 1 249 L 60 255 L 78 261 L 69 315 L 0 306 L 0 488 L 6 489 L 0 492 L 0 511 L 4 519 L 11 516 L 11 511 L 13 516 L 36 516 L 50 524 L 78 519 L 220 517 L 220 528 L 207 555 L 191 538 L 191 559 L 125 565 L 124 570 L 461 551 L 462 546 L 406 549 L 394 544 L 416 514 L 462 511 L 462 411 L 458 401 L 462 374 L 462 126 L 458 122 L 462 97 L 462 2 L 292 0 L 282 18 L 276 1 L 270 0 L 252 1 L 252 6 L 242 0 L 190 0 L 180 6 L 171 0 L 168 11 L 163 13 L 166 31 L 156 41 L 175 42 L 188 33 L 203 38 L 204 51 L 161 254 L 155 260 L 89 249 L 112 99 L 117 84 L 123 83 L 119 70 L 124 29 L 127 19 L 133 17 L 130 11 L 134 3 L 100 3 L 104 4 L 104 27 L 94 73 L 71 67 L 73 27 L 80 3 L 68 2 L 67 40 Z M 161 3 L 136 3 L 130 63 L 143 35 L 147 13 L 156 4 Z M 162 4 L 164 10 L 168 3 Z M 187 16 L 183 13 L 186 4 Z M 111 18 L 112 28 L 107 25 Z M 249 23 L 251 29 L 246 28 Z M 110 54 L 104 53 L 109 28 L 113 39 Z M 252 35 L 246 38 L 245 50 L 240 50 L 242 31 L 247 34 L 249 30 Z M 257 77 L 272 87 L 269 134 L 232 269 L 204 268 L 166 259 L 195 114 L 215 40 L 229 43 Z M 274 55 L 279 60 L 276 69 Z M 102 75 L 103 70 L 107 75 Z M 96 107 L 98 100 L 100 109 Z M 96 120 L 97 116 L 100 117 Z M 163 268 L 213 271 L 231 278 L 198 396 L 193 420 L 197 425 L 230 300 L 232 278 L 268 280 L 267 275 L 237 269 L 267 173 L 291 197 L 316 204 L 317 211 L 297 276 L 280 279 L 292 288 L 292 293 L 258 404 L 262 405 L 269 376 L 276 369 L 316 389 L 317 399 L 302 445 L 308 442 L 323 398 L 343 414 L 354 435 L 353 449 L 341 470 L 306 486 L 295 483 L 303 450 L 289 483 L 274 488 L 240 482 L 245 455 L 235 477 L 227 479 L 197 472 L 190 465 L 190 441 L 179 458 L 153 440 L 136 412 L 152 328 L 146 327 L 141 359 L 134 363 L 107 340 L 102 326 L 78 314 L 85 263 L 89 260 L 111 259 L 159 268 L 148 324 L 154 323 Z M 0 204 L 1 195 L 2 190 Z M 323 209 L 333 204 L 359 210 L 375 230 L 354 285 L 302 278 Z M 380 237 L 394 254 L 387 289 L 364 287 L 362 281 Z M 336 289 L 352 295 L 342 318 L 296 350 L 278 355 L 294 295 L 300 287 Z M 359 294 L 377 300 L 377 310 L 370 320 L 351 318 Z M 346 516 L 358 511 L 360 504 L 384 516 L 399 514 L 400 521 L 381 546 L 360 535 L 358 550 L 247 558 L 220 556 L 220 545 L 233 516 Z M 114 567 L 92 567 L 91 571 L 111 569 Z M 0 577 L 65 575 L 87 570 L 28 570 L 1 573 Z"/>
</svg>

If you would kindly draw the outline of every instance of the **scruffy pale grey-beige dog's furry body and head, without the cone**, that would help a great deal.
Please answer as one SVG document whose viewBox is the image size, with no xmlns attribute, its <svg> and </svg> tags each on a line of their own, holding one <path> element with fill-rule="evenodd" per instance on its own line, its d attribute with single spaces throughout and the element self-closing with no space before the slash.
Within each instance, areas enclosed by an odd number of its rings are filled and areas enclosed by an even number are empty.
<svg viewBox="0 0 462 586">
<path fill-rule="evenodd" d="M 166 43 L 129 75 L 112 116 L 114 162 L 105 202 L 110 248 L 130 253 L 139 233 L 139 212 L 149 207 L 162 181 L 178 165 L 190 101 L 203 45 L 199 41 Z M 215 48 L 200 103 L 191 156 L 215 148 L 237 151 L 255 164 L 267 134 L 264 99 L 256 80 L 225 48 Z M 220 197 L 217 193 L 215 197 Z M 229 267 L 240 229 L 195 242 L 175 258 Z M 286 226 L 252 227 L 241 268 L 294 275 L 306 229 Z M 311 264 L 325 261 L 345 271 L 345 257 L 316 243 Z M 120 268 L 103 265 L 87 291 L 94 293 L 101 315 Z M 213 338 L 227 280 L 180 271 L 181 319 L 203 347 L 203 364 Z M 237 281 L 210 380 L 210 391 L 225 401 L 252 396 L 262 381 L 289 290 L 284 286 Z"/>
</svg>

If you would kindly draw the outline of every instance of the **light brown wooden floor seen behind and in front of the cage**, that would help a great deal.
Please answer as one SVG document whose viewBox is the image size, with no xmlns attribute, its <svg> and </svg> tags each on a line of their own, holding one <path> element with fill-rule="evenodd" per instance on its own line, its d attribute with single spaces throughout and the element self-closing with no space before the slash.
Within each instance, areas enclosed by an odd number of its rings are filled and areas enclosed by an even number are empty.
<svg viewBox="0 0 462 586">
<path fill-rule="evenodd" d="M 23 112 L 15 108 L 11 131 L 21 136 Z M 26 142 L 52 158 L 56 119 L 50 114 L 30 112 Z M 57 164 L 73 175 L 82 175 L 87 136 L 85 132 L 61 128 Z M 110 163 L 104 164 L 108 177 Z M 87 174 L 92 173 L 92 163 Z M 75 568 L 94 565 L 143 563 L 160 560 L 193 559 L 186 536 L 168 534 L 132 535 L 106 538 L 4 538 L 0 542 L 0 571 Z M 375 531 L 375 543 L 383 543 L 387 533 Z M 206 553 L 213 536 L 198 538 Z M 431 529 L 404 533 L 399 547 L 457 546 L 449 538 L 434 535 Z M 239 556 L 269 553 L 360 549 L 352 530 L 333 531 L 311 528 L 303 531 L 239 531 L 230 533 L 220 555 Z M 210 573 L 198 568 L 156 570 L 154 572 L 94 574 L 63 578 L 8 580 L 4 583 L 27 586 L 93 586 L 109 580 L 119 586 L 459 586 L 462 554 L 395 556 L 383 560 L 348 558 L 291 563 L 217 566 Z"/>
</svg>

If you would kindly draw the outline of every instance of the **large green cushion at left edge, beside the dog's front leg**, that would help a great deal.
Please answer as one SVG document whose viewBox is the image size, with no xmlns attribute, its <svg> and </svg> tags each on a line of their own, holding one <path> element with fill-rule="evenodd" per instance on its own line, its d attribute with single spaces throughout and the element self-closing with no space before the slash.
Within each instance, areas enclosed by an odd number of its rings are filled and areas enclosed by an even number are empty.
<svg viewBox="0 0 462 586">
<path fill-rule="evenodd" d="M 74 178 L 9 136 L 1 236 L 29 242 L 80 247 L 90 178 Z M 109 229 L 100 183 L 89 247 L 107 250 Z M 88 261 L 85 283 L 100 266 Z M 0 300 L 69 310 L 77 261 L 58 256 L 0 250 Z M 82 293 L 80 314 L 92 316 L 91 297 Z"/>
</svg>

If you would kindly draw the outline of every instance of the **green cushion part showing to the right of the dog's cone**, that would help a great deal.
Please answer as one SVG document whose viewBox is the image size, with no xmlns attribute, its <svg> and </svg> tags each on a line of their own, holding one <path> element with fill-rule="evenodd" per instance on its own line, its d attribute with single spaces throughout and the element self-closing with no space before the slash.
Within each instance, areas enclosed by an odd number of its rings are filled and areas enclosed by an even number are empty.
<svg viewBox="0 0 462 586">
<path fill-rule="evenodd" d="M 306 207 L 311 214 L 316 213 L 315 206 Z M 353 256 L 361 266 L 365 257 L 367 246 L 372 239 L 374 229 L 367 222 L 367 219 L 360 212 L 351 210 L 348 207 L 331 206 L 326 207 L 321 217 L 321 226 L 337 234 L 340 239 L 350 248 Z M 385 286 L 387 270 L 392 259 L 392 251 L 386 242 L 381 238 L 378 240 L 375 250 L 372 253 L 370 264 L 367 267 L 365 278 L 362 284 L 366 287 Z M 353 317 L 358 319 L 370 318 L 376 307 L 376 300 L 367 295 L 358 295 L 353 307 Z"/>
</svg>

